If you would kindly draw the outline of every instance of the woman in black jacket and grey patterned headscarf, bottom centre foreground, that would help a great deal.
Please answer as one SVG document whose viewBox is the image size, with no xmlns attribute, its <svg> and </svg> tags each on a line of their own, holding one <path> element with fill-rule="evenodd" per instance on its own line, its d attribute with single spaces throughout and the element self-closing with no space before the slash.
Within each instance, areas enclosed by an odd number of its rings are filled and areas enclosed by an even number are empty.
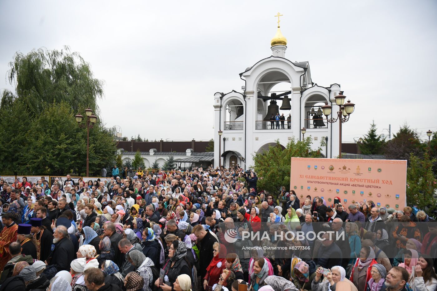
<svg viewBox="0 0 437 291">
<path fill-rule="evenodd" d="M 173 241 L 168 251 L 169 259 L 166 261 L 164 270 L 163 284 L 160 285 L 159 278 L 155 281 L 155 286 L 162 288 L 163 291 L 171 291 L 176 278 L 181 274 L 192 276 L 191 266 L 188 264 L 185 256 L 187 255 L 187 246 L 179 240 Z"/>
</svg>

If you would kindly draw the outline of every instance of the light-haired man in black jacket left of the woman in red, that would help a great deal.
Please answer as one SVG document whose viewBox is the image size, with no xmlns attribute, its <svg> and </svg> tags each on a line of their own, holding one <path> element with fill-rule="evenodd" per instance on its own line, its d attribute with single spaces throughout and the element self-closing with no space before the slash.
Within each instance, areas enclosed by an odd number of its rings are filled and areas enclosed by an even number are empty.
<svg viewBox="0 0 437 291">
<path fill-rule="evenodd" d="M 199 274 L 203 278 L 206 275 L 206 268 L 214 256 L 212 245 L 217 242 L 217 239 L 209 231 L 206 231 L 202 225 L 194 226 L 193 233 L 198 239 L 199 257 L 201 258 Z"/>
</svg>

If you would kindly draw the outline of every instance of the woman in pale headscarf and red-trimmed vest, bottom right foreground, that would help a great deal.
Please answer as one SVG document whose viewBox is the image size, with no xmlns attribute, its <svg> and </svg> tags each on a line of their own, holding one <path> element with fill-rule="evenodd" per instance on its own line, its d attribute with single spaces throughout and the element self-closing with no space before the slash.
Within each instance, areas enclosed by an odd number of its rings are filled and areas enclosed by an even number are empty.
<svg viewBox="0 0 437 291">
<path fill-rule="evenodd" d="M 366 290 L 366 283 L 371 278 L 370 271 L 376 263 L 373 249 L 370 246 L 363 246 L 360 251 L 360 257 L 357 258 L 350 274 L 350 279 L 357 286 L 358 290 Z"/>
</svg>

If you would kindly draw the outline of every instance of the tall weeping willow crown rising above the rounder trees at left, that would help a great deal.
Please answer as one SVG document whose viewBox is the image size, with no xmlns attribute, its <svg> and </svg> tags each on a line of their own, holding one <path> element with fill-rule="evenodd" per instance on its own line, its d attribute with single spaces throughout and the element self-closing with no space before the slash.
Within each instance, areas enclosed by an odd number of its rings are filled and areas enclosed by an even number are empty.
<svg viewBox="0 0 437 291">
<path fill-rule="evenodd" d="M 40 48 L 24 55 L 16 52 L 9 63 L 7 80 L 15 92 L 3 90 L 0 106 L 10 106 L 20 98 L 31 116 L 47 104 L 66 102 L 73 112 L 83 106 L 99 113 L 97 100 L 103 97 L 104 81 L 94 78 L 90 64 L 68 46 L 59 50 Z"/>
</svg>

